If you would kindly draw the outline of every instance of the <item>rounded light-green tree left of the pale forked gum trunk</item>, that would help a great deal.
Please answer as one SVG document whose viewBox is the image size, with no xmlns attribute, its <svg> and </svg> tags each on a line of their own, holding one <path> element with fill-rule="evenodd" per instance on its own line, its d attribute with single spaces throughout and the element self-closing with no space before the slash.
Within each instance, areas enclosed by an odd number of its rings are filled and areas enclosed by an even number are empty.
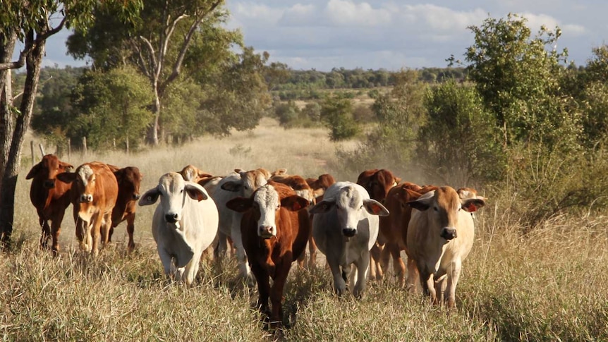
<svg viewBox="0 0 608 342">
<path fill-rule="evenodd" d="M 73 142 L 87 137 L 87 145 L 107 148 L 136 146 L 152 120 L 147 105 L 152 93 L 147 80 L 133 68 L 83 75 L 72 92 L 73 112 L 66 135 Z"/>
</svg>

